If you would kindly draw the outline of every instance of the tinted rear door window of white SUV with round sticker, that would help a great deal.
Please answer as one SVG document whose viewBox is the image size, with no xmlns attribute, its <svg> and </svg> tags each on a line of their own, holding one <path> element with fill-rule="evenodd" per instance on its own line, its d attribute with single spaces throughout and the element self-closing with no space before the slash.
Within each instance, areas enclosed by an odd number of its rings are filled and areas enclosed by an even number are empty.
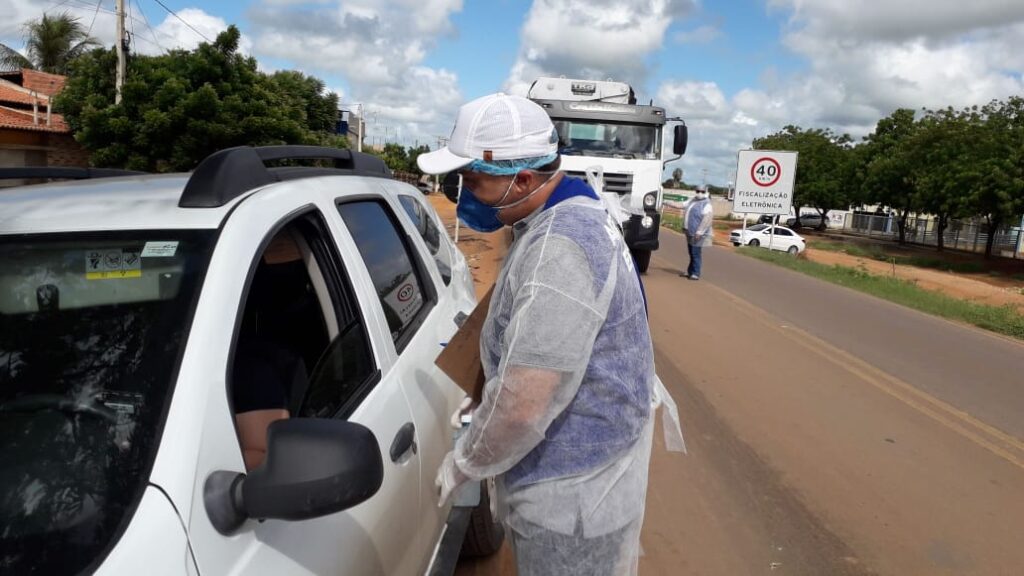
<svg viewBox="0 0 1024 576">
<path fill-rule="evenodd" d="M 395 346 L 401 351 L 433 303 L 414 249 L 403 240 L 394 214 L 373 200 L 345 202 L 338 211 L 366 262 Z"/>
</svg>

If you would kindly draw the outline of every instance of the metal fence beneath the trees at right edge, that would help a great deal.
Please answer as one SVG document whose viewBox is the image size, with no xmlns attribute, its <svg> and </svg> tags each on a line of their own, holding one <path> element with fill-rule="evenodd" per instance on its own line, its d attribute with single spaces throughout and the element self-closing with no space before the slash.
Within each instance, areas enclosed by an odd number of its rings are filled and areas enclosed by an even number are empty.
<svg viewBox="0 0 1024 576">
<path fill-rule="evenodd" d="M 929 218 L 907 218 L 906 241 L 912 244 L 938 246 L 938 222 Z M 899 239 L 899 220 L 895 214 L 847 214 L 843 230 L 868 237 Z M 1005 225 L 995 231 L 992 254 L 1018 257 L 1021 229 Z M 987 225 L 970 220 L 950 220 L 942 234 L 943 245 L 952 250 L 984 252 L 988 242 Z"/>
</svg>

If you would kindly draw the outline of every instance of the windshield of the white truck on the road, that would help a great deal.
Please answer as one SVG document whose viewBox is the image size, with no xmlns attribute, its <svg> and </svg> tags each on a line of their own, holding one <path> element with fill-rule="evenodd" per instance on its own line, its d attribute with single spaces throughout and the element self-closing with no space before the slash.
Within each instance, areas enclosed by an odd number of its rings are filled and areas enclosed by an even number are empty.
<svg viewBox="0 0 1024 576">
<path fill-rule="evenodd" d="M 558 152 L 566 156 L 658 160 L 660 127 L 586 120 L 554 120 Z"/>
</svg>

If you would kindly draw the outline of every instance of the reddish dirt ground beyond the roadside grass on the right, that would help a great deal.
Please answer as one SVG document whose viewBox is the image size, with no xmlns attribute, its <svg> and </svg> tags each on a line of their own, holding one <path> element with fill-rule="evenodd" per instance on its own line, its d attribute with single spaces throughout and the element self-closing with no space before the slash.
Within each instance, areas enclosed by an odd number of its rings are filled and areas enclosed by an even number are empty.
<svg viewBox="0 0 1024 576">
<path fill-rule="evenodd" d="M 729 222 L 731 228 L 736 228 L 735 222 Z M 716 244 L 731 248 L 728 242 L 728 231 L 716 231 Z M 853 269 L 862 269 L 876 276 L 895 276 L 896 278 L 915 283 L 925 290 L 942 292 L 954 298 L 962 298 L 978 303 L 996 306 L 1012 305 L 1024 314 L 1024 282 L 1014 280 L 1008 275 L 1024 273 L 1024 261 L 1013 260 L 1011 258 L 995 258 L 988 265 L 990 270 L 999 272 L 1000 276 L 993 276 L 988 273 L 966 274 L 955 272 L 937 271 L 901 263 L 893 264 L 872 258 L 854 256 L 844 252 L 834 252 L 830 250 L 816 250 L 815 242 L 821 240 L 831 240 L 829 238 L 819 238 L 813 233 L 801 233 L 807 239 L 807 251 L 803 257 L 826 265 L 843 265 Z M 851 241 L 857 242 L 857 241 Z M 866 244 L 874 241 L 864 240 Z M 950 262 L 980 262 L 980 256 L 973 256 L 958 253 L 939 253 L 927 248 L 907 248 L 899 250 L 895 246 L 887 247 L 889 251 L 900 255 L 927 255 L 928 257 L 945 258 Z M 1004 261 L 1009 260 L 1009 261 Z"/>
</svg>

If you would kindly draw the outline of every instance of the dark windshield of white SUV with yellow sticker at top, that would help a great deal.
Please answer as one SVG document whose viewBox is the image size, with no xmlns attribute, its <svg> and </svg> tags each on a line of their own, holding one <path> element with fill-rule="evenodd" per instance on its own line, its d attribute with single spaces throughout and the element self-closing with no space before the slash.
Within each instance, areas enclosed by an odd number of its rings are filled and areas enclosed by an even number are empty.
<svg viewBox="0 0 1024 576">
<path fill-rule="evenodd" d="M 0 237 L 0 572 L 91 571 L 123 532 L 213 235 Z"/>
</svg>

